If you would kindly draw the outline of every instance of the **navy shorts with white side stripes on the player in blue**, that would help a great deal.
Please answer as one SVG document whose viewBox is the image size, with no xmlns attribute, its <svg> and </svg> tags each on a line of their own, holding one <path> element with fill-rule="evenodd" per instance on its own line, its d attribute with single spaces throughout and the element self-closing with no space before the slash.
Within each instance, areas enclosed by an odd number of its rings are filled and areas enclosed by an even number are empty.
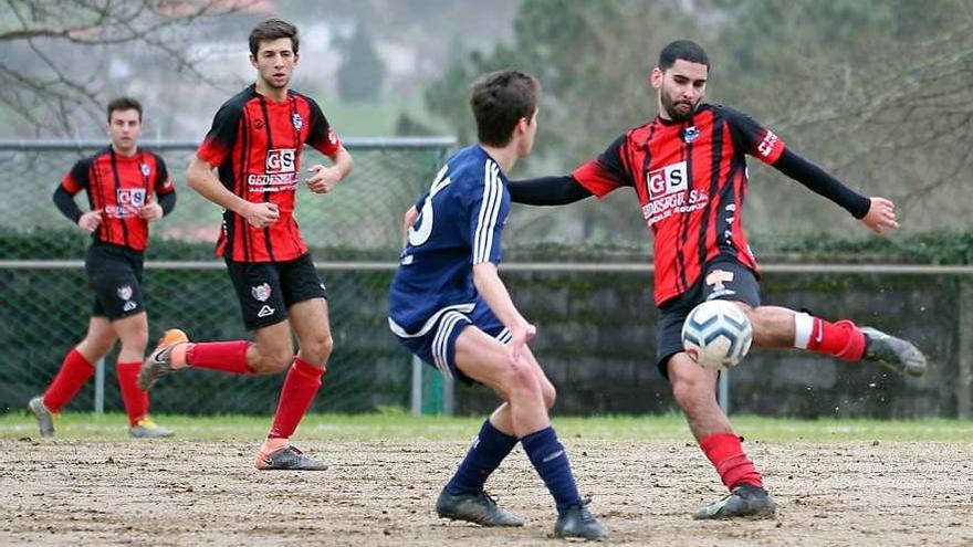
<svg viewBox="0 0 973 547">
<path fill-rule="evenodd" d="M 447 378 L 458 378 L 467 383 L 473 380 L 456 366 L 456 340 L 463 328 L 473 325 L 502 344 L 510 341 L 510 330 L 500 323 L 482 298 L 439 309 L 415 333 L 405 332 L 391 320 L 389 325 L 399 344 L 409 351 L 436 367 Z"/>
</svg>

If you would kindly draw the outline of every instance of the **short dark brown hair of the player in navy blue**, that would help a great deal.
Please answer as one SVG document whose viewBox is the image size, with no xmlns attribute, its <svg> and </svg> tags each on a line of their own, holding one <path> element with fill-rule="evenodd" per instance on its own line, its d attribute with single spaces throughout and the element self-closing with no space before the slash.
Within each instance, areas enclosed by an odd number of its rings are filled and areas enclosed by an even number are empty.
<svg viewBox="0 0 973 547">
<path fill-rule="evenodd" d="M 470 88 L 477 137 L 490 146 L 506 146 L 521 118 L 537 111 L 541 83 L 521 71 L 496 71 L 480 76 Z"/>
</svg>

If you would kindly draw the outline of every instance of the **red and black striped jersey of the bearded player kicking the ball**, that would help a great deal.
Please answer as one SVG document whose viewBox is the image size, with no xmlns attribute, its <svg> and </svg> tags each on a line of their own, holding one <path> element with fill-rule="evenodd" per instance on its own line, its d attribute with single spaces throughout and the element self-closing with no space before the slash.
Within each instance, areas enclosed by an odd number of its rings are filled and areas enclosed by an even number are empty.
<svg viewBox="0 0 973 547">
<path fill-rule="evenodd" d="M 749 154 L 766 164 L 784 141 L 750 116 L 701 105 L 691 119 L 653 122 L 628 130 L 572 176 L 599 198 L 634 187 L 655 234 L 656 304 L 684 293 L 716 255 L 756 272 L 741 215 Z"/>
</svg>

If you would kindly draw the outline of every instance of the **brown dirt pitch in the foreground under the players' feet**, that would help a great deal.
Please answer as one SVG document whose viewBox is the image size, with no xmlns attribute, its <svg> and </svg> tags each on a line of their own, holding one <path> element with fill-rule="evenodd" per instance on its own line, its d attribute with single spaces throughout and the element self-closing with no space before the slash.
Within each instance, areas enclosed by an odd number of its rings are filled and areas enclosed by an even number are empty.
<svg viewBox="0 0 973 547">
<path fill-rule="evenodd" d="M 973 444 L 752 444 L 775 519 L 689 518 L 722 495 L 694 445 L 567 439 L 609 545 L 973 545 Z M 527 519 L 436 517 L 459 442 L 305 442 L 332 469 L 258 472 L 252 441 L 0 441 L 0 545 L 558 545 L 517 449 L 488 483 Z"/>
</svg>

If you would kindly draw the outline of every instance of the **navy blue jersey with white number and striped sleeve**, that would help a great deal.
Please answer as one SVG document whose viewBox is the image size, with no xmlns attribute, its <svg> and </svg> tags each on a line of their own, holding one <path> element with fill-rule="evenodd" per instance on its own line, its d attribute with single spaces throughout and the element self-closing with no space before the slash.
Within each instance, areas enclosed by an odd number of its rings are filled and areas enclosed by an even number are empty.
<svg viewBox="0 0 973 547">
<path fill-rule="evenodd" d="M 500 166 L 479 145 L 453 155 L 416 203 L 419 218 L 389 294 L 399 337 L 428 333 L 451 309 L 469 313 L 478 294 L 473 264 L 500 263 L 510 192 Z"/>
</svg>

